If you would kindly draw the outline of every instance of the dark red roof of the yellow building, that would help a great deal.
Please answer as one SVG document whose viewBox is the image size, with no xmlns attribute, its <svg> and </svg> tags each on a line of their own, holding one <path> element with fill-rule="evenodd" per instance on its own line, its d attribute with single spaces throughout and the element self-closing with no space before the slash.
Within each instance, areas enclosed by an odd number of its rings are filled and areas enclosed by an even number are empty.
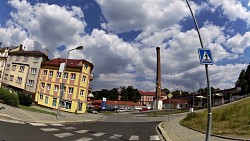
<svg viewBox="0 0 250 141">
<path fill-rule="evenodd" d="M 64 58 L 56 58 L 51 59 L 49 61 L 43 62 L 43 66 L 57 66 L 59 67 L 61 63 L 65 63 L 67 60 L 66 68 L 82 68 L 84 62 L 87 62 L 91 66 L 91 70 L 93 70 L 93 64 L 86 60 L 77 60 L 77 59 L 64 59 Z"/>
</svg>

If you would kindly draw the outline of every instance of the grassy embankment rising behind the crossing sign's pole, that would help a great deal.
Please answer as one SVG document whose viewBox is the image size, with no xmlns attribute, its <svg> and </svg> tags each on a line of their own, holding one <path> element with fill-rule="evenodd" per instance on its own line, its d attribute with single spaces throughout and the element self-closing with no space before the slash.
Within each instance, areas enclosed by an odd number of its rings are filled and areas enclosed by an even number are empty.
<svg viewBox="0 0 250 141">
<path fill-rule="evenodd" d="M 212 119 L 213 134 L 250 138 L 250 99 L 212 109 Z M 206 131 L 207 110 L 188 114 L 180 124 Z"/>
</svg>

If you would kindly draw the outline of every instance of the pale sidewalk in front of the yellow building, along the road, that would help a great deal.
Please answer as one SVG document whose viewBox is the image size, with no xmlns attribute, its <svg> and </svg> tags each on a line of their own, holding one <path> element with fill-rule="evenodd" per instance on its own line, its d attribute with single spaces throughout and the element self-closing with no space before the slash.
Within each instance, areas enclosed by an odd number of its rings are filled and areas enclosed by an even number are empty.
<svg viewBox="0 0 250 141">
<path fill-rule="evenodd" d="M 74 114 L 67 112 L 60 112 L 60 116 L 58 119 L 54 115 L 43 114 L 37 112 L 31 112 L 28 110 L 23 110 L 20 108 L 12 107 L 9 105 L 5 105 L 0 103 L 0 107 L 4 107 L 4 109 L 0 110 L 0 120 L 12 120 L 16 122 L 40 122 L 40 123 L 66 123 L 66 122 L 91 122 L 96 121 L 103 117 L 102 114 Z M 55 110 L 36 107 L 39 109 L 43 109 L 50 112 L 55 112 Z"/>
</svg>

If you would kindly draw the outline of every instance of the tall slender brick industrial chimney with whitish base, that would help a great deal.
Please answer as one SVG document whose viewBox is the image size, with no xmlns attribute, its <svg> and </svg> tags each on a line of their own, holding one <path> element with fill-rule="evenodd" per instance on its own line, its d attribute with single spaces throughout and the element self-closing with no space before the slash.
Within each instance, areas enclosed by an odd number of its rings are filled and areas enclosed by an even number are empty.
<svg viewBox="0 0 250 141">
<path fill-rule="evenodd" d="M 156 47 L 157 72 L 156 72 L 156 110 L 159 109 L 159 98 L 161 95 L 161 56 L 160 47 Z"/>
</svg>

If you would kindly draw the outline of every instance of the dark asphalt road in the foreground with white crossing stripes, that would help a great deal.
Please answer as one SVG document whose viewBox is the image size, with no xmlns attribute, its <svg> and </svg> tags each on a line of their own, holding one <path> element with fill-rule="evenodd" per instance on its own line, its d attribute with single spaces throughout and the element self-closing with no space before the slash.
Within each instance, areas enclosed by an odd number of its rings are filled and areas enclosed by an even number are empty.
<svg viewBox="0 0 250 141">
<path fill-rule="evenodd" d="M 0 121 L 0 141 L 128 141 L 160 140 L 152 122 L 14 124 Z"/>
</svg>

